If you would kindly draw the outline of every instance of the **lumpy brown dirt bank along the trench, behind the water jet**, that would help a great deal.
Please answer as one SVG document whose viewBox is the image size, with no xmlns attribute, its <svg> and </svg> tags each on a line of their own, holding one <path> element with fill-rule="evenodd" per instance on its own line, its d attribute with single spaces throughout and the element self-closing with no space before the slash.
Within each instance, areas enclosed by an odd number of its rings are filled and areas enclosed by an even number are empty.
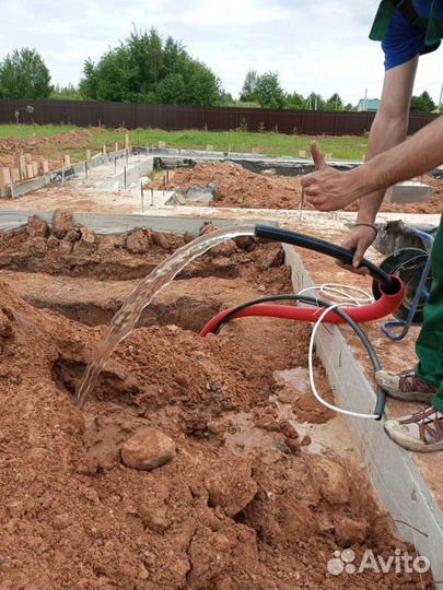
<svg viewBox="0 0 443 590">
<path fill-rule="evenodd" d="M 214 229 L 210 224 L 203 232 Z M 38 216 L 27 227 L 0 232 L 0 269 L 56 275 L 130 280 L 149 274 L 164 258 L 193 236 L 135 228 L 121 236 L 98 236 L 71 221 L 69 211 L 56 211 L 53 228 Z M 271 293 L 290 287 L 279 244 L 253 238 L 229 240 L 186 267 L 180 279 L 191 276 L 244 276 Z"/>
</svg>

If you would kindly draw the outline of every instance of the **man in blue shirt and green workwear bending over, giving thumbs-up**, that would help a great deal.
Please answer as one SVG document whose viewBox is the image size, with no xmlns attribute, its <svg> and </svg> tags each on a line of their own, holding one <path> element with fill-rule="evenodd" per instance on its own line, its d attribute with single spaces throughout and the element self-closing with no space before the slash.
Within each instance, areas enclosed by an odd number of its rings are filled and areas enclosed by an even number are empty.
<svg viewBox="0 0 443 590">
<path fill-rule="evenodd" d="M 370 34 L 370 38 L 382 40 L 385 79 L 381 107 L 369 138 L 369 162 L 350 173 L 338 173 L 324 166 L 318 149 L 313 145 L 316 167 L 322 169 L 302 181 L 307 201 L 320 211 L 333 211 L 360 199 L 357 223 L 345 243 L 346 247 L 355 249 L 354 272 L 365 272 L 359 264 L 376 236 L 374 221 L 385 189 L 443 162 L 442 118 L 398 145 L 408 128 L 419 55 L 435 50 L 442 36 L 443 0 L 383 0 Z M 395 145 L 398 148 L 390 149 Z M 443 449 L 442 249 L 441 222 L 432 253 L 431 297 L 416 346 L 418 365 L 400 374 L 384 370 L 376 374 L 377 382 L 393 398 L 428 404 L 418 414 L 385 424 L 393 440 L 421 452 Z"/>
</svg>

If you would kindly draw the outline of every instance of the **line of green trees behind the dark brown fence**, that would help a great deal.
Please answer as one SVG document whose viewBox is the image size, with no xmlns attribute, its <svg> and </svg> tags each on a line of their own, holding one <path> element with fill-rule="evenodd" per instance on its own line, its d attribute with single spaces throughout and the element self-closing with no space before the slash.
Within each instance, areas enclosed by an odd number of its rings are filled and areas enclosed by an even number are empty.
<svg viewBox="0 0 443 590">
<path fill-rule="evenodd" d="M 223 90 L 220 78 L 193 58 L 180 42 L 155 28 L 135 28 L 97 62 L 86 59 L 78 86 L 51 84 L 49 69 L 35 49 L 14 49 L 0 60 L 0 98 L 88 99 L 164 105 L 250 106 L 312 110 L 355 110 L 338 93 L 287 93 L 278 72 L 246 73 L 240 99 Z M 413 96 L 411 110 L 436 108 L 428 92 Z"/>
</svg>

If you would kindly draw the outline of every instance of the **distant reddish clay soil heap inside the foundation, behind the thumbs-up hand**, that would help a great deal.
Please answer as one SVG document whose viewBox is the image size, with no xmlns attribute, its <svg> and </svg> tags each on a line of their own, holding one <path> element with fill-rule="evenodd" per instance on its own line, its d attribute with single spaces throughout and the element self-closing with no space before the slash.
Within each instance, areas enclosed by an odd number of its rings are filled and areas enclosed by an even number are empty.
<svg viewBox="0 0 443 590">
<path fill-rule="evenodd" d="M 383 203 L 382 212 L 403 213 L 441 213 L 442 181 L 424 176 L 423 181 L 434 188 L 432 198 L 424 203 L 396 204 Z M 152 186 L 163 188 L 163 174 Z M 207 186 L 214 182 L 218 187 L 213 206 L 241 209 L 298 209 L 301 199 L 300 177 L 255 174 L 234 163 L 199 164 L 194 168 L 178 168 L 170 173 L 168 189 L 180 187 L 186 193 L 193 185 Z M 195 203 L 205 205 L 205 203 Z M 313 209 L 305 203 L 306 209 Z M 348 211 L 357 211 L 352 203 Z"/>
</svg>

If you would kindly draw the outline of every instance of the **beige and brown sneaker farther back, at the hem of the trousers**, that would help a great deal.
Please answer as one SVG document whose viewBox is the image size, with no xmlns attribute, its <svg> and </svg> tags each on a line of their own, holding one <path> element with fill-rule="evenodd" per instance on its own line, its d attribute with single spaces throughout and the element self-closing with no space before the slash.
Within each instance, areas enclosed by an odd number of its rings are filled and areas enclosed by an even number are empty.
<svg viewBox="0 0 443 590">
<path fill-rule="evenodd" d="M 431 404 L 439 389 L 422 381 L 413 369 L 403 373 L 377 370 L 375 380 L 388 396 L 403 401 L 421 401 Z"/>
</svg>

